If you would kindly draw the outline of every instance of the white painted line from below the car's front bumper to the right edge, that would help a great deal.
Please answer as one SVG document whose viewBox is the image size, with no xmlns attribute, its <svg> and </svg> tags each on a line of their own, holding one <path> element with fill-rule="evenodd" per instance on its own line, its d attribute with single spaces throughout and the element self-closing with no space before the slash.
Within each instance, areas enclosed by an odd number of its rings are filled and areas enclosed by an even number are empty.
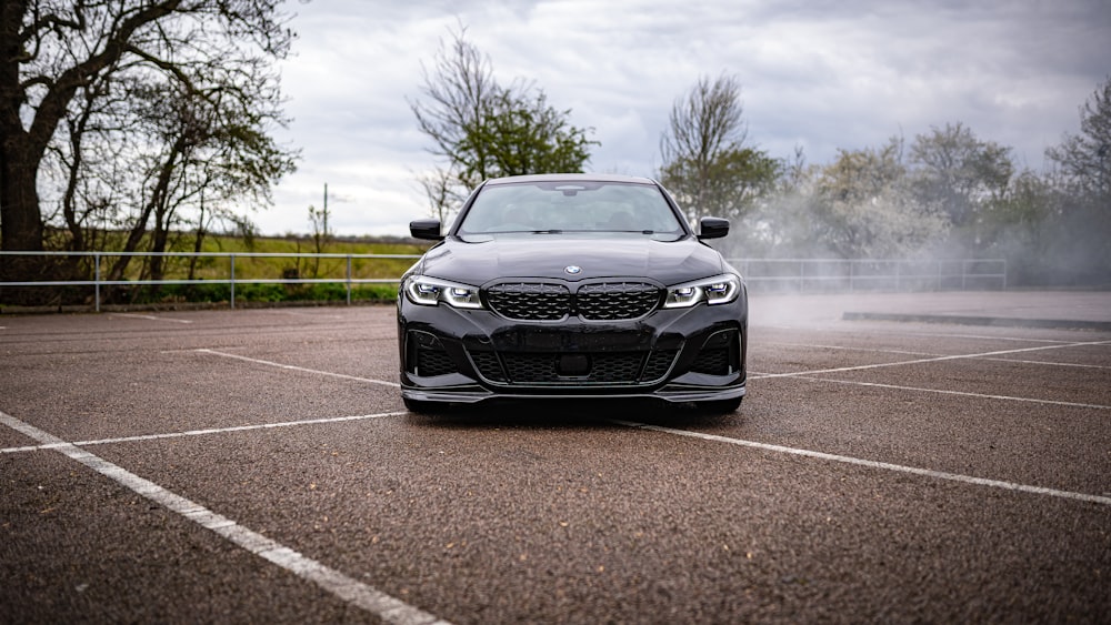
<svg viewBox="0 0 1111 625">
<path fill-rule="evenodd" d="M 838 462 L 842 464 L 851 464 L 855 466 L 864 466 L 868 468 L 880 468 L 884 471 L 894 471 L 898 473 L 909 473 L 911 475 L 920 475 L 923 477 L 932 477 L 935 480 L 947 480 L 950 482 L 960 482 L 963 484 L 973 484 L 977 486 L 988 486 L 991 488 L 1002 488 L 1007 491 L 1018 491 L 1020 493 L 1030 493 L 1034 495 L 1047 495 L 1051 497 L 1059 497 L 1064 500 L 1073 500 L 1080 502 L 1097 503 L 1102 505 L 1111 506 L 1111 497 L 1104 497 L 1100 495 L 1089 495 L 1087 493 L 1074 493 L 1071 491 L 1060 491 L 1057 488 L 1045 488 L 1043 486 L 1031 486 L 1028 484 L 1019 484 L 1015 482 L 1005 482 L 1002 480 L 988 480 L 984 477 L 972 477 L 970 475 L 961 475 L 959 473 L 947 473 L 944 471 L 933 471 L 930 468 L 918 468 L 914 466 L 905 466 L 901 464 L 891 464 L 888 462 L 878 462 L 872 460 L 862 460 L 852 456 L 842 456 L 838 454 L 828 454 L 824 452 L 814 452 L 810 450 L 800 450 L 795 447 L 784 447 L 782 445 L 772 445 L 769 443 L 758 443 L 755 441 L 744 441 L 741 438 L 730 438 L 728 436 L 719 436 L 717 434 L 704 434 L 701 432 L 689 432 L 687 430 L 675 430 L 673 427 L 663 427 L 660 425 L 649 425 L 647 423 L 637 423 L 633 421 L 622 421 L 622 420 L 610 420 L 611 423 L 618 425 L 623 425 L 627 427 L 637 427 L 640 430 L 649 430 L 652 432 L 661 432 L 664 434 L 673 434 L 675 436 L 687 436 L 689 438 L 699 438 L 702 441 L 712 441 L 715 443 L 725 443 L 729 445 L 738 445 L 742 447 L 751 447 L 755 450 L 761 450 L 765 452 L 774 452 L 780 454 L 790 454 L 794 456 L 803 456 L 815 460 L 823 460 L 828 462 Z"/>
</svg>

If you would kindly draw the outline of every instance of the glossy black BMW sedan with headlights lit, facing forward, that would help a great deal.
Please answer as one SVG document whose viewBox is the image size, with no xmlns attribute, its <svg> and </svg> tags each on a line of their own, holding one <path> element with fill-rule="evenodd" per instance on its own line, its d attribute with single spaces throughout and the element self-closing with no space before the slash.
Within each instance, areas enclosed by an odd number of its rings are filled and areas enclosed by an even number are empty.
<svg viewBox="0 0 1111 625">
<path fill-rule="evenodd" d="M 642 178 L 489 180 L 398 293 L 401 396 L 413 412 L 494 397 L 653 397 L 732 412 L 744 396 L 740 273 Z"/>
</svg>

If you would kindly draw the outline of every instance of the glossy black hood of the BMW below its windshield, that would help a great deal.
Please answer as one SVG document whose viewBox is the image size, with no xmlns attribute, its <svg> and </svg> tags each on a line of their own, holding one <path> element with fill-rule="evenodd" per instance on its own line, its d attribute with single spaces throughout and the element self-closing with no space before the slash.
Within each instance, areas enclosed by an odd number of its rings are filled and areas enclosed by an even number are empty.
<svg viewBox="0 0 1111 625">
<path fill-rule="evenodd" d="M 564 271 L 581 268 L 578 274 Z M 569 282 L 645 276 L 678 284 L 725 271 L 721 255 L 693 236 L 661 241 L 649 235 L 575 238 L 567 234 L 449 238 L 428 251 L 420 273 L 481 285 L 498 278 Z"/>
</svg>

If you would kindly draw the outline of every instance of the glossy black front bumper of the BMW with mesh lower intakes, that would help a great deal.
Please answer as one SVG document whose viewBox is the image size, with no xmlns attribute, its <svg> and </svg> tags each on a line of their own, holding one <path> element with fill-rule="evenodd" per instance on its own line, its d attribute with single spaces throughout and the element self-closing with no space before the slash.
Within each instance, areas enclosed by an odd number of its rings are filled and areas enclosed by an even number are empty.
<svg viewBox="0 0 1111 625">
<path fill-rule="evenodd" d="M 633 321 L 522 322 L 487 310 L 398 308 L 401 393 L 494 397 L 734 400 L 745 393 L 748 304 L 657 310 Z"/>
</svg>

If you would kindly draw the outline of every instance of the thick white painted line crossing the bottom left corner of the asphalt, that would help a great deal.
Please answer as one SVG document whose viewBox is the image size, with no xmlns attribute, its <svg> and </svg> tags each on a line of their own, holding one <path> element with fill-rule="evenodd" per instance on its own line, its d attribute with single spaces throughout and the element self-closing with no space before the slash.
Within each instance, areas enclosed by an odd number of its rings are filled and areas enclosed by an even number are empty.
<svg viewBox="0 0 1111 625">
<path fill-rule="evenodd" d="M 231 518 L 212 512 L 181 495 L 167 491 L 149 480 L 139 477 L 119 465 L 112 464 L 73 443 L 67 443 L 53 434 L 39 430 L 14 416 L 0 412 L 0 423 L 39 441 L 43 445 L 51 445 L 51 448 L 106 477 L 114 480 L 126 488 L 164 506 L 206 530 L 214 532 L 239 547 L 277 564 L 303 579 L 317 584 L 344 602 L 358 606 L 388 623 L 398 625 L 450 625 L 447 621 L 368 586 L 358 579 L 348 577 L 343 573 L 304 556 L 258 532 L 251 531 Z"/>
</svg>

